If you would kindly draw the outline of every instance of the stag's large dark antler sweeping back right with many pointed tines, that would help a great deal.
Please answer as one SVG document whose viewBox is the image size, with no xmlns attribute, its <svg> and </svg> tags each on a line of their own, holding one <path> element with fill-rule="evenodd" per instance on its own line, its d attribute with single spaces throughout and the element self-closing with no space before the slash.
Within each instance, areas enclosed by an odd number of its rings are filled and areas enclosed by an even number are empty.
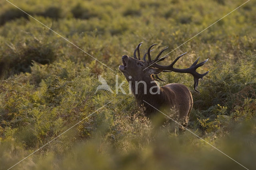
<svg viewBox="0 0 256 170">
<path fill-rule="evenodd" d="M 159 58 L 160 55 L 164 52 L 164 50 L 166 50 L 168 47 L 166 47 L 165 49 L 163 49 L 163 50 L 157 55 L 156 59 L 154 59 L 154 61 L 152 61 L 152 60 L 151 60 L 151 57 L 150 57 L 150 49 L 151 49 L 151 47 L 153 47 L 154 45 L 156 45 L 156 44 L 153 44 L 153 45 L 151 45 L 151 46 L 148 48 L 148 52 L 147 52 L 147 53 L 144 55 L 144 57 L 143 57 L 143 58 L 145 58 L 144 61 L 146 61 L 146 55 L 148 54 L 148 61 L 147 61 L 147 62 L 148 62 L 152 67 L 161 69 L 161 70 L 163 70 L 163 72 L 171 72 L 171 71 L 173 71 L 173 72 L 190 73 L 190 74 L 192 74 L 192 75 L 194 76 L 194 89 L 195 89 L 196 92 L 199 92 L 199 91 L 197 90 L 197 86 L 198 86 L 199 79 L 200 79 L 200 78 L 203 79 L 203 77 L 204 77 L 206 74 L 208 74 L 209 71 L 205 72 L 204 74 L 199 74 L 198 72 L 196 72 L 196 69 L 197 69 L 198 67 L 204 65 L 204 64 L 208 61 L 208 59 L 205 60 L 205 61 L 203 61 L 203 62 L 201 62 L 201 63 L 199 63 L 199 64 L 197 64 L 197 62 L 198 62 L 198 60 L 199 60 L 199 57 L 198 57 L 198 59 L 197 59 L 189 68 L 184 68 L 184 69 L 174 68 L 173 65 L 178 61 L 178 59 L 180 59 L 180 57 L 182 57 L 183 55 L 185 55 L 185 54 L 187 53 L 187 52 L 186 52 L 186 53 L 180 55 L 179 57 L 177 57 L 170 65 L 168 65 L 168 66 L 162 66 L 162 65 L 160 65 L 160 64 L 157 64 L 157 62 L 163 61 L 164 59 L 166 59 L 166 57 L 168 57 L 168 55 L 167 55 L 167 56 L 164 56 L 164 57 L 162 57 L 162 58 L 160 58 L 160 59 L 158 59 L 158 58 Z M 157 78 L 162 81 L 162 79 L 160 79 L 159 77 L 157 77 Z"/>
</svg>

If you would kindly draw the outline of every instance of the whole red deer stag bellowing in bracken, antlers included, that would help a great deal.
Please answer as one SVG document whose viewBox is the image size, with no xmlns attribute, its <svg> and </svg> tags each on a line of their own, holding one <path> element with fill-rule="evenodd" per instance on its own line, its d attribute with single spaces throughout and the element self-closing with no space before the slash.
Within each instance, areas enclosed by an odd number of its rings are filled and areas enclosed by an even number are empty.
<svg viewBox="0 0 256 170">
<path fill-rule="evenodd" d="M 119 70 L 124 74 L 126 80 L 130 83 L 130 88 L 132 93 L 134 94 L 138 107 L 143 111 L 144 115 L 150 117 L 156 113 L 157 109 L 162 109 L 163 107 L 167 109 L 174 108 L 178 113 L 178 119 L 182 123 L 184 127 L 187 127 L 188 124 L 188 116 L 193 106 L 193 99 L 190 90 L 183 84 L 171 83 L 165 86 L 159 87 L 156 84 L 155 80 L 161 80 L 157 74 L 160 72 L 180 72 L 180 73 L 190 73 L 194 76 L 194 89 L 198 86 L 198 80 L 200 78 L 203 79 L 203 76 L 208 74 L 208 72 L 204 74 L 199 74 L 196 72 L 196 69 L 202 66 L 204 63 L 208 61 L 203 61 L 202 63 L 197 64 L 198 59 L 189 67 L 185 69 L 174 68 L 173 65 L 186 53 L 177 57 L 172 64 L 168 66 L 163 66 L 157 64 L 159 61 L 163 61 L 167 56 L 164 56 L 160 59 L 160 55 L 168 48 L 163 49 L 157 57 L 152 61 L 150 57 L 150 50 L 154 45 L 151 45 L 148 48 L 148 51 L 145 53 L 143 60 L 140 59 L 140 45 L 136 47 L 134 51 L 134 58 L 128 57 L 127 55 L 122 56 L 122 64 L 119 66 Z M 136 56 L 138 53 L 138 58 Z M 146 56 L 148 56 L 148 61 L 146 60 Z M 149 104 L 147 104 L 146 102 Z"/>
</svg>

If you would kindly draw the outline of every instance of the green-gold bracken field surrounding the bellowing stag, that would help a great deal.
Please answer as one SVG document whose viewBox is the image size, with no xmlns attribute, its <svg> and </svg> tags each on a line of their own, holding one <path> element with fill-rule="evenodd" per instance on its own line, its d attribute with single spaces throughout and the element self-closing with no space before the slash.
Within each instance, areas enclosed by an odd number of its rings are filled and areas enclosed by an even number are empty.
<svg viewBox="0 0 256 170">
<path fill-rule="evenodd" d="M 255 0 L 9 2 L 0 1 L 1 170 L 27 156 L 12 169 L 256 169 Z M 192 92 L 182 134 L 144 117 L 128 93 L 118 66 L 141 41 L 142 53 L 158 43 L 153 56 L 175 49 L 161 64 L 186 51 L 177 68 L 209 58 L 200 93 L 190 74 L 160 74 L 160 85 Z M 96 91 L 100 76 L 113 93 Z"/>
</svg>

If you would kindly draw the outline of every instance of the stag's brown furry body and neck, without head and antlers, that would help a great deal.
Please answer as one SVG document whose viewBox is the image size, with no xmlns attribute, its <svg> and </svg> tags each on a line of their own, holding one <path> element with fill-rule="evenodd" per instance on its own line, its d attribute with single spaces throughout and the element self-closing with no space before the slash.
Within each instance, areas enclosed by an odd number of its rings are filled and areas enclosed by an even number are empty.
<svg viewBox="0 0 256 170">
<path fill-rule="evenodd" d="M 154 107 L 160 109 L 163 111 L 163 113 L 166 110 L 170 111 L 170 109 L 174 108 L 178 114 L 178 121 L 182 123 L 184 127 L 187 127 L 189 113 L 193 107 L 192 94 L 188 88 L 183 84 L 172 83 L 162 87 L 158 86 L 158 88 L 160 88 L 160 94 L 150 94 L 149 89 L 152 86 L 157 86 L 157 84 L 156 82 L 149 83 L 154 81 L 152 78 L 148 82 L 145 79 L 144 81 L 147 84 L 147 94 L 144 94 L 143 84 L 138 87 L 138 94 L 135 94 L 135 87 L 134 83 L 132 82 L 132 92 L 136 98 L 138 107 L 144 113 L 144 115 L 148 117 L 155 115 L 158 111 Z M 154 107 L 150 106 L 143 100 Z"/>
</svg>

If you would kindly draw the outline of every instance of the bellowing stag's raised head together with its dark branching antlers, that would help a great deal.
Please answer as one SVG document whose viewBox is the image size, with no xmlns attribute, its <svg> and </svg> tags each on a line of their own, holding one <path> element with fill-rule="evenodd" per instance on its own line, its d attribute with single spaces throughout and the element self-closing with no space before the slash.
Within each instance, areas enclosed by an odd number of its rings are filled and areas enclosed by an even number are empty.
<svg viewBox="0 0 256 170">
<path fill-rule="evenodd" d="M 151 50 L 151 48 L 157 44 L 153 44 L 148 48 L 148 51 L 145 53 L 145 55 L 143 56 L 143 59 L 140 59 L 140 45 L 142 44 L 139 43 L 138 46 L 136 47 L 136 49 L 134 50 L 134 55 L 133 58 L 132 57 L 128 57 L 127 55 L 123 55 L 122 56 L 122 64 L 119 66 L 119 70 L 124 74 L 124 76 L 126 77 L 127 80 L 146 80 L 146 79 L 153 79 L 153 80 L 160 80 L 160 81 L 164 81 L 161 78 L 158 77 L 157 74 L 159 74 L 160 72 L 180 72 L 180 73 L 190 73 L 194 76 L 194 90 L 196 92 L 199 92 L 197 90 L 197 86 L 198 86 L 198 81 L 200 78 L 203 79 L 203 76 L 205 76 L 206 74 L 208 74 L 209 71 L 205 72 L 204 74 L 199 74 L 198 72 L 196 72 L 196 69 L 202 65 L 204 65 L 204 63 L 206 63 L 208 61 L 205 60 L 202 63 L 198 63 L 199 57 L 198 59 L 189 67 L 189 68 L 184 68 L 184 69 L 179 69 L 179 68 L 174 68 L 173 65 L 178 61 L 178 59 L 180 59 L 180 57 L 182 57 L 183 55 L 185 55 L 186 53 L 180 55 L 179 57 L 177 57 L 170 65 L 167 66 L 163 66 L 160 64 L 157 64 L 160 61 L 164 61 L 164 59 L 166 59 L 166 57 L 168 57 L 169 55 L 166 55 L 162 58 L 159 59 L 160 55 L 168 48 L 166 47 L 165 49 L 163 49 L 162 51 L 160 51 L 160 53 L 156 56 L 156 58 L 152 61 L 151 59 L 151 55 L 150 52 L 153 51 Z M 138 57 L 136 55 L 136 53 L 138 54 Z M 148 60 L 146 60 L 146 56 L 148 56 Z"/>
</svg>

